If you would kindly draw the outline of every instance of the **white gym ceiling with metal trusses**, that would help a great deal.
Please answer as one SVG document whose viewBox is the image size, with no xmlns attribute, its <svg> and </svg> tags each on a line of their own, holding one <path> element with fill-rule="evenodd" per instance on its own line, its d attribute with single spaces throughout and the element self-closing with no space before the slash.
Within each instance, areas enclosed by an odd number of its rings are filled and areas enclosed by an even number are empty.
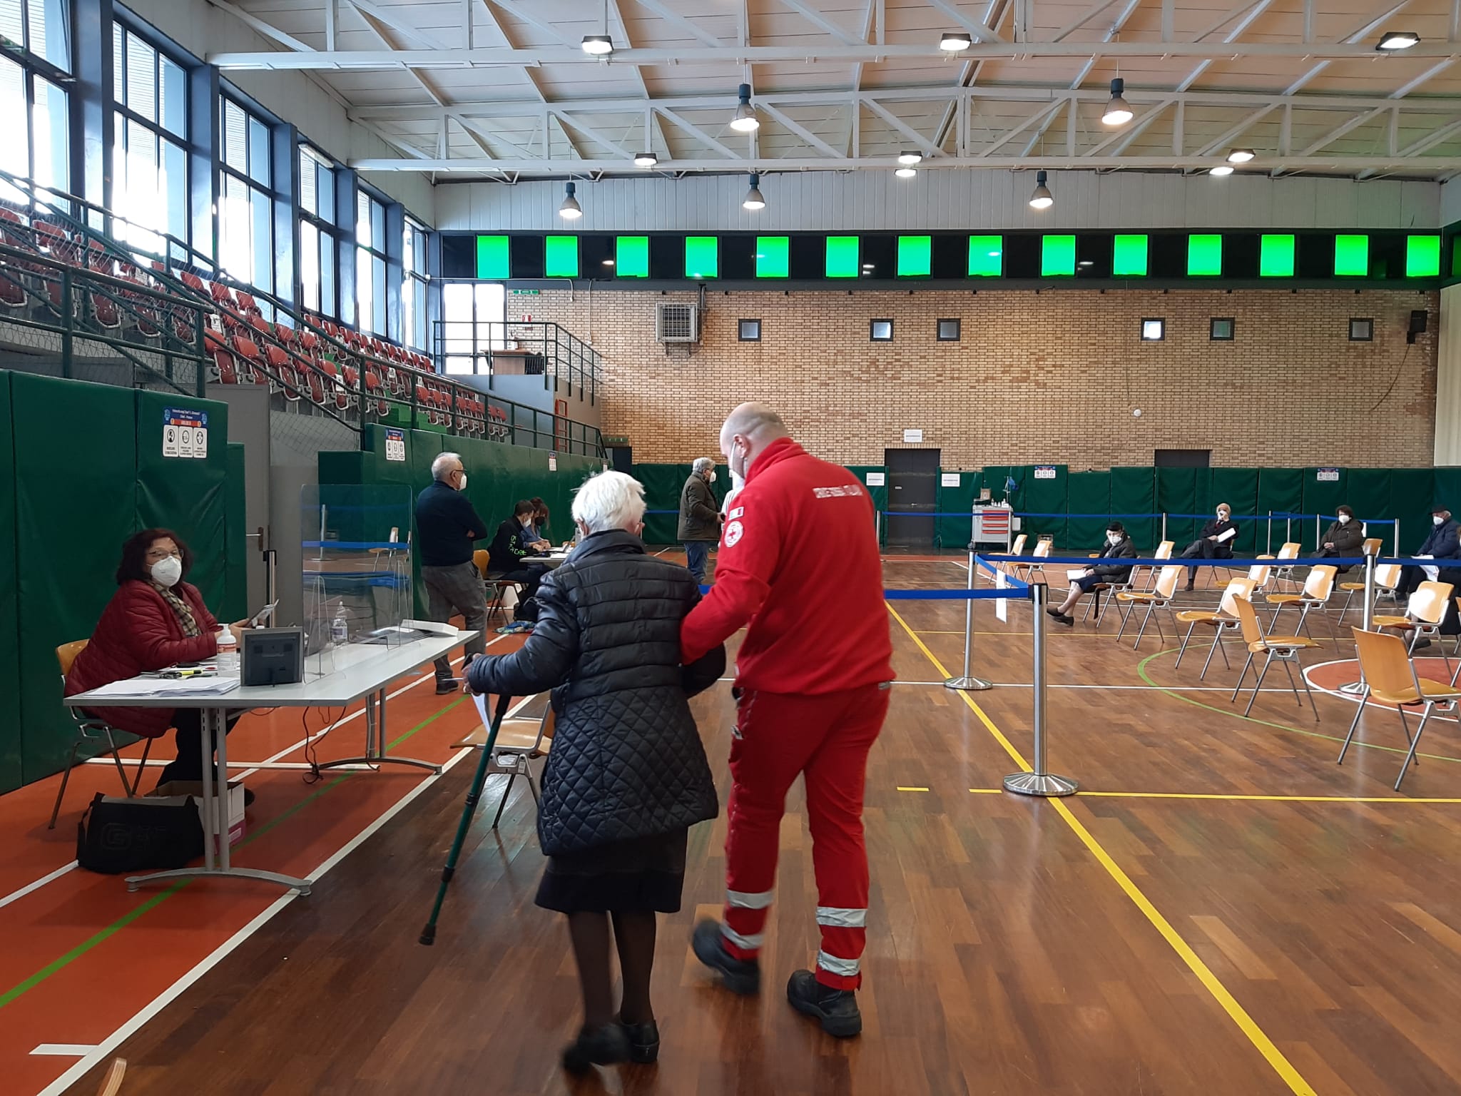
<svg viewBox="0 0 1461 1096">
<path fill-rule="evenodd" d="M 1461 0 L 210 0 L 438 177 L 929 168 L 1461 174 Z M 614 39 L 586 57 L 583 35 Z M 1422 44 L 1381 54 L 1381 31 Z M 963 56 L 942 31 L 969 32 Z M 1135 118 L 1100 121 L 1112 77 Z M 729 129 L 736 85 L 761 127 Z"/>
</svg>

